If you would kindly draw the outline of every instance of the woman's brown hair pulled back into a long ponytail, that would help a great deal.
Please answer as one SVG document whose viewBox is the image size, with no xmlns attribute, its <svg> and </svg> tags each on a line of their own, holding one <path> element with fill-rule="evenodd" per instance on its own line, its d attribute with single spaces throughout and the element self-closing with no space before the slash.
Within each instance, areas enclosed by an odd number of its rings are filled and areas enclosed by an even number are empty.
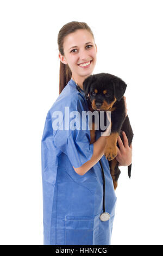
<svg viewBox="0 0 163 256">
<path fill-rule="evenodd" d="M 66 23 L 59 31 L 58 33 L 58 50 L 60 51 L 61 55 L 64 56 L 64 38 L 66 35 L 73 33 L 77 31 L 78 29 L 86 29 L 89 31 L 92 36 L 93 33 L 91 31 L 91 28 L 85 23 L 85 22 L 78 22 L 78 21 L 72 21 Z M 94 36 L 93 39 L 95 40 Z M 61 91 L 65 88 L 66 84 L 68 81 L 71 80 L 72 72 L 67 65 L 64 63 L 60 62 L 60 70 L 59 70 L 59 94 Z"/>
</svg>

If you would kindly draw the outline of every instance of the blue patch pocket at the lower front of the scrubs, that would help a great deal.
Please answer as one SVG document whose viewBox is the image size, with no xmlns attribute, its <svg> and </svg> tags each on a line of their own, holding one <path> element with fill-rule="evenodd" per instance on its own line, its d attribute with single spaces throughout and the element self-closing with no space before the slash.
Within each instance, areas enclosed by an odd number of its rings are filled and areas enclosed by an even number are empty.
<svg viewBox="0 0 163 256">
<path fill-rule="evenodd" d="M 93 245 L 93 237 L 98 236 L 99 215 L 66 216 L 65 245 Z"/>
</svg>

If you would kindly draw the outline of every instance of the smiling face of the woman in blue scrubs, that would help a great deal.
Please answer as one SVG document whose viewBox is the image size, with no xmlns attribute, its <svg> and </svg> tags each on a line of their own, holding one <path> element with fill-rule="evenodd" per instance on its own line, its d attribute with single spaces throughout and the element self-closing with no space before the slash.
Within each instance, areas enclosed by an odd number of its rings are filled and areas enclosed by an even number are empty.
<svg viewBox="0 0 163 256">
<path fill-rule="evenodd" d="M 65 37 L 63 46 L 65 56 L 59 53 L 59 58 L 62 63 L 68 64 L 73 77 L 80 80 L 90 76 L 97 58 L 97 46 L 91 33 L 86 29 L 78 29 Z M 84 63 L 84 66 L 81 65 Z"/>
</svg>

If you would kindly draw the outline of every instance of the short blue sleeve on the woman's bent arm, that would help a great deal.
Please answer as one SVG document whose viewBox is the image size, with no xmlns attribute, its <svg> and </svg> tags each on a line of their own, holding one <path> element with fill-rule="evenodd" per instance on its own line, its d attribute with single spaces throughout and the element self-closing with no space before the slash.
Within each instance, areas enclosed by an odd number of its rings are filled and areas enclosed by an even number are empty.
<svg viewBox="0 0 163 256">
<path fill-rule="evenodd" d="M 69 120 L 64 113 L 59 125 L 63 130 L 53 130 L 54 145 L 67 155 L 73 167 L 78 168 L 89 161 L 93 155 L 93 144 L 90 144 L 89 117 L 86 115 L 83 99 L 74 99 L 68 109 Z M 67 130 L 64 129 L 65 124 Z"/>
</svg>

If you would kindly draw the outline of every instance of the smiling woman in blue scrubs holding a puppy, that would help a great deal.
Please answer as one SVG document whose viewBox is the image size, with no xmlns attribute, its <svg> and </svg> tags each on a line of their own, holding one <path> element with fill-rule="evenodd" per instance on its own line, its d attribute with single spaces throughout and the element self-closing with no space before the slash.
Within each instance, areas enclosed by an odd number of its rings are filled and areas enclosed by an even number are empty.
<svg viewBox="0 0 163 256">
<path fill-rule="evenodd" d="M 48 111 L 42 136 L 44 245 L 110 245 L 116 196 L 104 156 L 106 140 L 96 131 L 96 142 L 90 144 L 90 130 L 82 130 L 80 122 L 74 122 L 83 121 L 82 113 L 89 111 L 83 81 L 95 68 L 97 46 L 84 22 L 63 26 L 58 46 L 60 95 Z M 72 122 L 74 111 L 78 114 Z M 60 114 L 61 121 L 56 119 Z M 87 117 L 84 120 L 87 124 Z M 131 163 L 131 148 L 125 135 L 124 138 L 125 145 L 118 138 L 121 147 L 117 160 L 127 166 Z M 105 173 L 108 221 L 99 218 L 103 212 L 100 159 Z"/>
</svg>

